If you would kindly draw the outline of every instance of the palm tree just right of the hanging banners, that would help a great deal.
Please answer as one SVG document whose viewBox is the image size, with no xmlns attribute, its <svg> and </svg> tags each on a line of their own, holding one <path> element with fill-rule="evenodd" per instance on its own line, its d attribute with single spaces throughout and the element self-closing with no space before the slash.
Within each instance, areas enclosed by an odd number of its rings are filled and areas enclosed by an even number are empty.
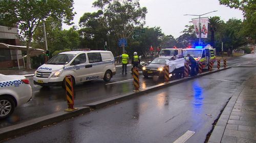
<svg viewBox="0 0 256 143">
<path fill-rule="evenodd" d="M 223 20 L 219 16 L 214 16 L 209 18 L 209 31 L 211 32 L 211 45 L 215 47 L 215 32 L 218 30 L 218 28 L 223 23 Z"/>
</svg>

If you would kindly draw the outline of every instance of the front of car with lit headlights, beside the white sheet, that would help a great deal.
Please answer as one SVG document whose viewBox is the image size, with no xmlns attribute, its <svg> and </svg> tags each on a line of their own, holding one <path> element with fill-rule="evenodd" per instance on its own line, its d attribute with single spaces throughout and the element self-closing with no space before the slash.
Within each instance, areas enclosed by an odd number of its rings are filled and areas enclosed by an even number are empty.
<svg viewBox="0 0 256 143">
<path fill-rule="evenodd" d="M 164 76 L 164 65 L 166 64 L 165 60 L 171 60 L 170 58 L 156 58 L 150 64 L 142 68 L 142 74 L 144 77 L 148 76 Z"/>
</svg>

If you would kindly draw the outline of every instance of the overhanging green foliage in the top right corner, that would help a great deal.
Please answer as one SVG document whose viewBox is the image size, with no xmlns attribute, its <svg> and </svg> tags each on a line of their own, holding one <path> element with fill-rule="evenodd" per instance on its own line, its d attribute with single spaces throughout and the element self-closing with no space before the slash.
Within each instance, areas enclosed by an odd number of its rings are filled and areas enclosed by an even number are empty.
<svg viewBox="0 0 256 143">
<path fill-rule="evenodd" d="M 228 1 L 219 0 L 221 5 L 243 11 L 245 20 L 243 21 L 243 34 L 248 37 L 250 43 L 255 44 L 256 39 L 256 6 L 255 0 Z"/>
</svg>

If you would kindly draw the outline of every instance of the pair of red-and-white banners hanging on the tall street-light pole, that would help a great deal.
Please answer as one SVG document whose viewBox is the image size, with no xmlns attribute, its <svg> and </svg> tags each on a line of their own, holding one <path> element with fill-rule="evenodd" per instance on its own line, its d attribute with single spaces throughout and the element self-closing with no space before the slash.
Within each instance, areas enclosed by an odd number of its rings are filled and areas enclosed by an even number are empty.
<svg viewBox="0 0 256 143">
<path fill-rule="evenodd" d="M 199 38 L 199 18 L 194 18 L 192 19 L 195 31 L 196 31 L 196 36 Z M 208 17 L 202 17 L 200 18 L 200 23 L 201 23 L 201 38 L 207 38 L 208 35 Z"/>
</svg>

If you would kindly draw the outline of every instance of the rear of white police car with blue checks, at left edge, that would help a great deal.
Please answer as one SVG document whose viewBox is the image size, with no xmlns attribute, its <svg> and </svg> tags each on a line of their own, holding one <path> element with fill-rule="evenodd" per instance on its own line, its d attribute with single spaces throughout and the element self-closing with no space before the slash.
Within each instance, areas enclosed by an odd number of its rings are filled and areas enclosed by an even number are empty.
<svg viewBox="0 0 256 143">
<path fill-rule="evenodd" d="M 25 76 L 0 74 L 0 119 L 10 116 L 15 107 L 31 97 L 32 89 Z"/>
</svg>

